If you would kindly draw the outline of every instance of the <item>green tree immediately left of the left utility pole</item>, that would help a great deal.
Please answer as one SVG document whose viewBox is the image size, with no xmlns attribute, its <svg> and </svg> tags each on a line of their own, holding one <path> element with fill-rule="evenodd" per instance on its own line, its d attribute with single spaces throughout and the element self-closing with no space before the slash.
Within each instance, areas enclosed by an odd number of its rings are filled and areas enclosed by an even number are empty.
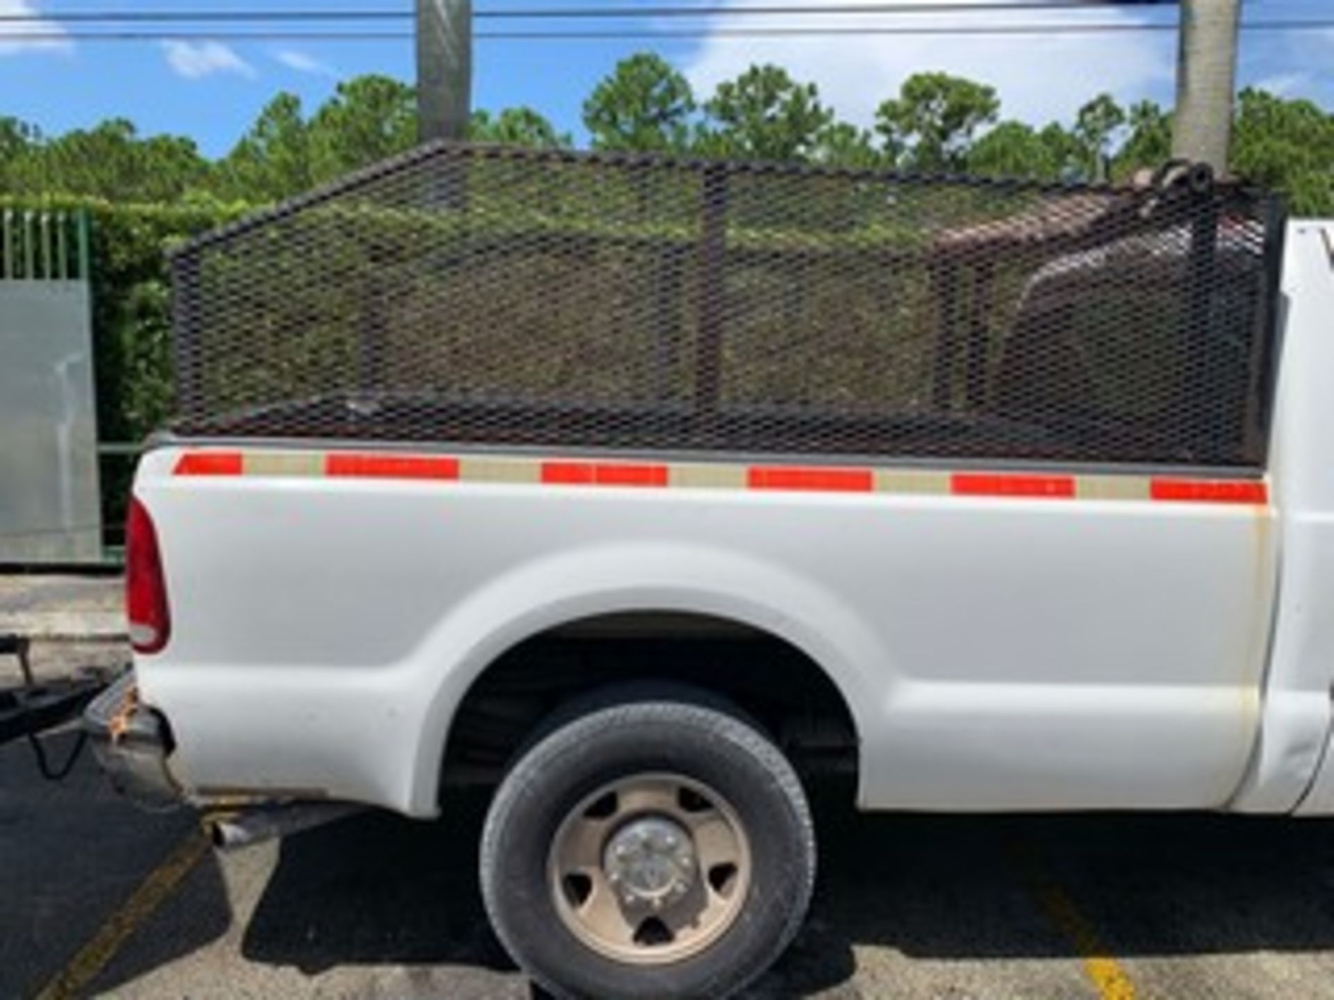
<svg viewBox="0 0 1334 1000">
<path fill-rule="evenodd" d="M 324 183 L 416 144 L 416 91 L 370 75 L 338 85 L 309 125 L 311 173 Z"/>
</svg>

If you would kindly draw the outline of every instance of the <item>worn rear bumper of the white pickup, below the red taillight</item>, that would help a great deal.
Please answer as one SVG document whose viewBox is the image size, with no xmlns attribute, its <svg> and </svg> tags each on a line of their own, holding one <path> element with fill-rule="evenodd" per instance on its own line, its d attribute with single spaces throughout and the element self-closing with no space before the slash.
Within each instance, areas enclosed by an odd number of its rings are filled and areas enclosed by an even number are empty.
<svg viewBox="0 0 1334 1000">
<path fill-rule="evenodd" d="M 160 712 L 140 704 L 133 671 L 93 699 L 83 725 L 116 791 L 153 808 L 181 803 L 181 788 L 167 767 L 175 745 L 171 728 Z"/>
</svg>

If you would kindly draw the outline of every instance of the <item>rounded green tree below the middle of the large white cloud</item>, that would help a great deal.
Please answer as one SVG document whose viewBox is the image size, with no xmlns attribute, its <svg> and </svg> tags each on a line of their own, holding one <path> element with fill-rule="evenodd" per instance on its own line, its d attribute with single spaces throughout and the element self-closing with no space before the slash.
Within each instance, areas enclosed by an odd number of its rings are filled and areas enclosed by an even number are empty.
<svg viewBox="0 0 1334 1000">
<path fill-rule="evenodd" d="M 886 155 L 899 167 L 922 172 L 964 167 L 972 136 L 996 120 L 1000 101 L 994 88 L 948 73 L 916 73 L 899 96 L 880 104 L 875 129 Z"/>
</svg>

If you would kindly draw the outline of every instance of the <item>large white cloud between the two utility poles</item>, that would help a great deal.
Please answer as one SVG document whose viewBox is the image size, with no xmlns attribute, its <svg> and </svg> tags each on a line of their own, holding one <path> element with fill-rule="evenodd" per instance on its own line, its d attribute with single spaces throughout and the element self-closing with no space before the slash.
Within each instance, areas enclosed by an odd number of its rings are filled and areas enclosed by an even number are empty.
<svg viewBox="0 0 1334 1000">
<path fill-rule="evenodd" d="M 872 0 L 855 0 L 871 3 Z M 735 3 L 735 0 L 730 0 Z M 846 5 L 847 0 L 842 0 Z M 792 17 L 727 17 L 724 29 L 792 27 Z M 998 27 L 1015 24 L 1137 24 L 1127 11 L 984 11 L 944 15 L 807 17 L 803 27 Z M 898 93 L 916 72 L 944 71 L 991 84 L 1002 116 L 1035 124 L 1069 121 L 1097 93 L 1139 100 L 1170 91 L 1175 36 L 1171 32 L 1090 32 L 1049 35 L 831 35 L 739 39 L 712 36 L 686 60 L 696 93 L 712 93 L 752 63 L 775 63 L 795 79 L 814 81 L 820 97 L 844 119 L 870 125 L 875 108 Z"/>
</svg>

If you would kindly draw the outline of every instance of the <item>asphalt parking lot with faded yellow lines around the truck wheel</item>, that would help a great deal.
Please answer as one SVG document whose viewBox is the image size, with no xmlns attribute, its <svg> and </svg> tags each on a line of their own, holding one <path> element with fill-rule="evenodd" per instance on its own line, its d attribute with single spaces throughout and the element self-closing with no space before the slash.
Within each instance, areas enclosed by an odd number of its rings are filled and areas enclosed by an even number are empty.
<svg viewBox="0 0 1334 1000">
<path fill-rule="evenodd" d="M 77 585 L 48 596 L 101 607 Z M 192 816 L 119 801 L 91 760 L 48 784 L 11 744 L 0 996 L 531 996 L 483 916 L 483 808 L 363 813 L 219 856 Z M 1334 996 L 1329 823 L 816 808 L 811 919 L 755 997 Z"/>
</svg>

